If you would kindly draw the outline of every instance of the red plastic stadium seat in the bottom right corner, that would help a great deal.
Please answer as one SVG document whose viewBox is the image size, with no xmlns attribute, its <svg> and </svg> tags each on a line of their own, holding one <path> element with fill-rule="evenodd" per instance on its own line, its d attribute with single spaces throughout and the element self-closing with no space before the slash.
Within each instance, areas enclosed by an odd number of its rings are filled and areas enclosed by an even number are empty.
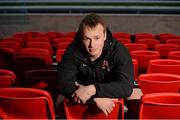
<svg viewBox="0 0 180 120">
<path fill-rule="evenodd" d="M 141 99 L 139 119 L 180 119 L 179 93 L 146 94 Z"/>
</svg>

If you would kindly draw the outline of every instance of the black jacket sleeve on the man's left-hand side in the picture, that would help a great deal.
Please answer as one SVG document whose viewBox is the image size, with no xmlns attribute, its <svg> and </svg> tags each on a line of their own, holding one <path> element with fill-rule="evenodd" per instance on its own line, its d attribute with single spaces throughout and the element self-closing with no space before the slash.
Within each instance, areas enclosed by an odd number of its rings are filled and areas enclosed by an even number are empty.
<svg viewBox="0 0 180 120">
<path fill-rule="evenodd" d="M 66 50 L 58 63 L 57 92 L 65 96 L 71 95 L 77 89 L 77 67 L 72 53 L 72 49 Z"/>
</svg>

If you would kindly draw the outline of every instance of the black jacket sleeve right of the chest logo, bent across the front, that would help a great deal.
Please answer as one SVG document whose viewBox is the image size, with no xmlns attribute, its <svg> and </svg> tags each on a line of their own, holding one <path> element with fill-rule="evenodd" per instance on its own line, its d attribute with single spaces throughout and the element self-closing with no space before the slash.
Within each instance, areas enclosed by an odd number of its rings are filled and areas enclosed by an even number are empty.
<svg viewBox="0 0 180 120">
<path fill-rule="evenodd" d="M 122 47 L 113 53 L 115 64 L 113 79 L 107 83 L 96 83 L 95 97 L 126 98 L 131 95 L 134 83 L 132 58 L 129 51 Z"/>
</svg>

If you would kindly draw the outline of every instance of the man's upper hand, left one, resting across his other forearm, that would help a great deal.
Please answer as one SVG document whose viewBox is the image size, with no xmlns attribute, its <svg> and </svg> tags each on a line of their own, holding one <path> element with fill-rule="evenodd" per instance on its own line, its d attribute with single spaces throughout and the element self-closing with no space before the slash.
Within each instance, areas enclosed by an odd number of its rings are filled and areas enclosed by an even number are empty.
<svg viewBox="0 0 180 120">
<path fill-rule="evenodd" d="M 79 88 L 72 94 L 74 101 L 77 103 L 82 102 L 85 104 L 91 96 L 96 94 L 96 88 L 94 85 L 84 86 L 79 83 L 75 83 Z"/>
</svg>

